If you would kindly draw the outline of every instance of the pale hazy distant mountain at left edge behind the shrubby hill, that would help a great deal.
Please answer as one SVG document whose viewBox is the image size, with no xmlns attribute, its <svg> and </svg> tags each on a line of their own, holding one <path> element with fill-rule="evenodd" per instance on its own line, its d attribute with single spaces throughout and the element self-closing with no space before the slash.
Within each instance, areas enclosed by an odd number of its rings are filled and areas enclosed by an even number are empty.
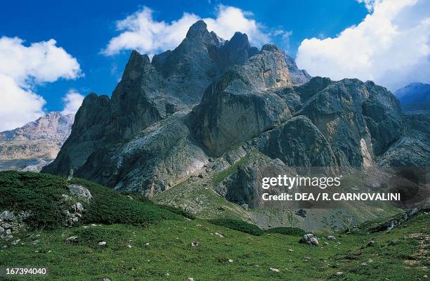
<svg viewBox="0 0 430 281">
<path fill-rule="evenodd" d="M 0 132 L 0 170 L 40 171 L 57 156 L 73 120 L 73 115 L 50 112 L 18 129 Z"/>
</svg>

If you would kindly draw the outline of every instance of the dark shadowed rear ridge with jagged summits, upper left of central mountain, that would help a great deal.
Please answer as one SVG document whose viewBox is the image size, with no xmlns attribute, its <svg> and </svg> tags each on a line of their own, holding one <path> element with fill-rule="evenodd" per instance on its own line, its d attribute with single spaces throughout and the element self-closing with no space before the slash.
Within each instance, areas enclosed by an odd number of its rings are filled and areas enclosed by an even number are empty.
<svg viewBox="0 0 430 281">
<path fill-rule="evenodd" d="M 70 169 L 77 170 L 85 164 L 93 152 L 113 143 L 124 143 L 151 124 L 199 103 L 207 86 L 226 68 L 247 63 L 256 53 L 258 49 L 249 45 L 246 34 L 237 32 L 230 41 L 224 41 L 208 32 L 202 21 L 190 27 L 177 48 L 155 55 L 152 62 L 148 55 L 133 51 L 112 98 L 96 94 L 85 98 L 69 140 L 56 161 L 43 171 L 66 175 Z M 285 58 L 279 57 L 280 61 L 275 63 L 285 66 Z M 289 67 L 294 69 L 294 65 Z M 288 73 L 284 68 L 279 81 L 261 74 L 260 83 L 291 83 L 284 81 Z M 297 79 L 303 83 L 309 78 Z"/>
</svg>

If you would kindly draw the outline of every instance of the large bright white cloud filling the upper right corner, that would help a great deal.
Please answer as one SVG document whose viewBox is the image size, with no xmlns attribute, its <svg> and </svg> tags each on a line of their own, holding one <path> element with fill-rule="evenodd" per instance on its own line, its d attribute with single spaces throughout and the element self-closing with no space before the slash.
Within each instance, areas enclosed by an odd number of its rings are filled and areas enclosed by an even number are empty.
<svg viewBox="0 0 430 281">
<path fill-rule="evenodd" d="M 297 65 L 312 75 L 373 80 L 395 90 L 430 81 L 430 1 L 379 0 L 336 38 L 305 39 Z M 372 3 L 370 3 L 372 2 Z"/>
</svg>

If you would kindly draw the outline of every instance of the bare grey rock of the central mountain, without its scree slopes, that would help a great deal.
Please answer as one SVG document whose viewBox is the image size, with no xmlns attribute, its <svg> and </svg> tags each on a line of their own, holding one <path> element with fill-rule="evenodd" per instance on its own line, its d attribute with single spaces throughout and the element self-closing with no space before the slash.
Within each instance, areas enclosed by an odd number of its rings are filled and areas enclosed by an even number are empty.
<svg viewBox="0 0 430 281">
<path fill-rule="evenodd" d="M 311 79 L 277 46 L 258 51 L 239 32 L 224 41 L 200 21 L 152 62 L 133 51 L 112 98 L 85 98 L 72 134 L 44 171 L 74 169 L 75 176 L 152 195 L 258 151 L 220 191 L 256 206 L 266 168 L 374 166 L 375 155 L 403 136 L 400 113 L 381 86 Z"/>
</svg>

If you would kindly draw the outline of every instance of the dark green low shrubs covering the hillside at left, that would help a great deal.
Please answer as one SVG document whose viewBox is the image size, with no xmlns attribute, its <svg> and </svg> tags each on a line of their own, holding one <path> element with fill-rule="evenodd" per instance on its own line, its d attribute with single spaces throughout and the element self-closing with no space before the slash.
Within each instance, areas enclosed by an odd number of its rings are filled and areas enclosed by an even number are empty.
<svg viewBox="0 0 430 281">
<path fill-rule="evenodd" d="M 118 192 L 79 178 L 66 181 L 50 174 L 0 172 L 0 210 L 29 211 L 26 219 L 32 228 L 59 228 L 65 221 L 63 194 L 71 195 L 67 184 L 79 184 L 93 195 L 84 203 L 83 223 L 123 223 L 148 226 L 157 221 L 193 218 L 188 212 L 152 203 L 135 192 Z"/>
</svg>

